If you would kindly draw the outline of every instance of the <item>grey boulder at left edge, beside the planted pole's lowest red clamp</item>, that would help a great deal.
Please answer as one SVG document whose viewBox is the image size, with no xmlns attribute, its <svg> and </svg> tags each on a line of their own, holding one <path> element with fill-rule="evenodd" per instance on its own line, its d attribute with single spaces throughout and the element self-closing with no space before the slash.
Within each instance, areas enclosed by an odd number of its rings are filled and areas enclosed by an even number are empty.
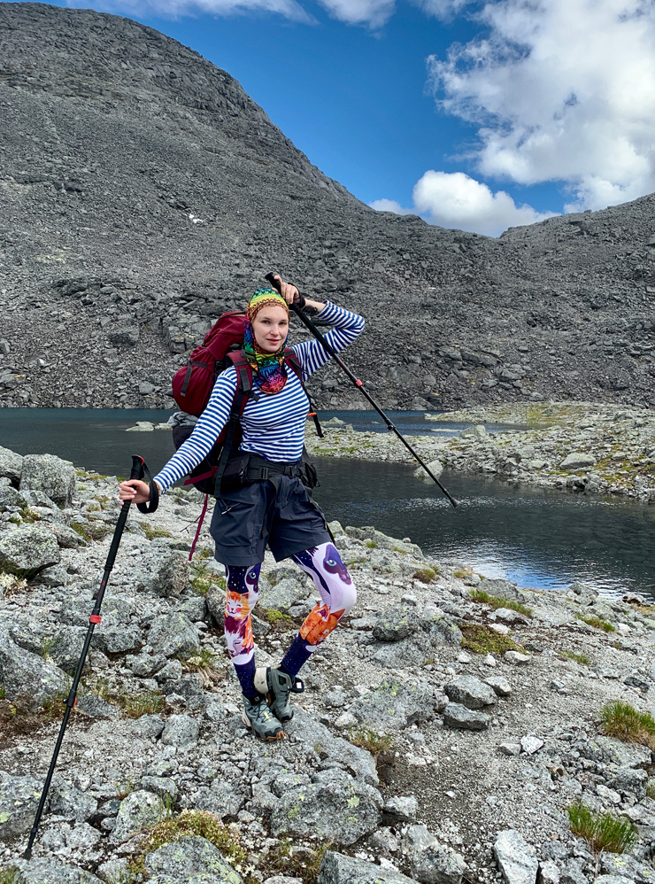
<svg viewBox="0 0 655 884">
<path fill-rule="evenodd" d="M 53 663 L 19 647 L 0 626 L 0 685 L 19 708 L 33 711 L 68 691 L 65 673 Z"/>
</svg>

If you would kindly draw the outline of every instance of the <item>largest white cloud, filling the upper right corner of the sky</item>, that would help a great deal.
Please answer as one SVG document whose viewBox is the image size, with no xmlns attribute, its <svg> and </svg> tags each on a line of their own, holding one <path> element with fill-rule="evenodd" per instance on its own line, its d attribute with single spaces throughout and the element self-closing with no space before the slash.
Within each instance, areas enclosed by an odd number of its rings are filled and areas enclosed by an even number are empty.
<svg viewBox="0 0 655 884">
<path fill-rule="evenodd" d="M 482 174 L 566 182 L 569 210 L 655 190 L 653 0 L 500 0 L 479 14 L 486 38 L 428 60 L 443 109 L 478 127 Z"/>
</svg>

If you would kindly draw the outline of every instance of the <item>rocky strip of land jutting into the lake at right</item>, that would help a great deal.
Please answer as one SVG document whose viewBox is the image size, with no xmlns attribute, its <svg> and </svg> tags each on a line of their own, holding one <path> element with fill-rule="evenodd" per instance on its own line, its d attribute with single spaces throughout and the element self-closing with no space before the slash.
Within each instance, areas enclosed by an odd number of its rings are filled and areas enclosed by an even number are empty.
<svg viewBox="0 0 655 884">
<path fill-rule="evenodd" d="M 469 423 L 458 438 L 407 437 L 437 478 L 448 467 L 509 482 L 655 503 L 655 414 L 651 409 L 592 402 L 519 402 L 426 417 L 435 423 Z M 485 423 L 516 426 L 490 434 Z M 356 432 L 338 421 L 326 423 L 325 432 L 323 439 L 307 433 L 305 444 L 312 454 L 413 461 L 392 433 Z"/>
</svg>

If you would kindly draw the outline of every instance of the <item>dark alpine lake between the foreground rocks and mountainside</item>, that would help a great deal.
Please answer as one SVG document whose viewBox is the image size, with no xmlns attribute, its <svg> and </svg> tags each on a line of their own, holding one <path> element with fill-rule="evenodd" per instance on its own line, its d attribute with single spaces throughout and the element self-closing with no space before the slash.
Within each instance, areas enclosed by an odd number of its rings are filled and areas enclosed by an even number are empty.
<svg viewBox="0 0 655 884">
<path fill-rule="evenodd" d="M 137 421 L 166 423 L 171 413 L 5 408 L 0 445 L 19 454 L 57 454 L 76 467 L 123 477 L 131 455 L 141 454 L 154 475 L 173 454 L 171 434 L 126 430 Z M 355 430 L 388 432 L 374 412 L 320 414 L 324 422 L 335 416 Z M 407 436 L 435 431 L 422 412 L 389 412 L 389 417 Z M 438 426 L 442 435 L 457 435 L 464 424 Z M 500 429 L 487 425 L 489 432 Z M 389 445 L 402 443 L 389 438 Z M 453 508 L 436 485 L 414 477 L 413 464 L 345 458 L 315 462 L 320 486 L 314 497 L 328 521 L 374 525 L 391 536 L 411 538 L 443 561 L 462 562 L 486 577 L 520 586 L 562 589 L 582 580 L 606 596 L 636 592 L 655 597 L 655 557 L 648 554 L 653 506 L 446 470 L 440 481 L 459 503 Z"/>
</svg>

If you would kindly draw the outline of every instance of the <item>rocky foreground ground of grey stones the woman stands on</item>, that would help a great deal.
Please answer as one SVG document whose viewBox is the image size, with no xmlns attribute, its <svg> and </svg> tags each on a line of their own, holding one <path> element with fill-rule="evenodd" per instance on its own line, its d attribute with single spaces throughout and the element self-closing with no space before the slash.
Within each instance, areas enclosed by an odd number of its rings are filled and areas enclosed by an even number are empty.
<svg viewBox="0 0 655 884">
<path fill-rule="evenodd" d="M 519 590 L 332 523 L 358 604 L 306 666 L 287 739 L 263 744 L 239 715 L 206 523 L 187 561 L 199 498 L 177 489 L 129 516 L 22 859 L 118 512 L 115 477 L 0 449 L 3 884 L 653 879 L 651 748 L 601 723 L 608 702 L 655 701 L 643 598 Z M 316 595 L 269 555 L 261 664 Z M 576 837 L 577 800 L 631 821 L 629 852 Z"/>
</svg>

